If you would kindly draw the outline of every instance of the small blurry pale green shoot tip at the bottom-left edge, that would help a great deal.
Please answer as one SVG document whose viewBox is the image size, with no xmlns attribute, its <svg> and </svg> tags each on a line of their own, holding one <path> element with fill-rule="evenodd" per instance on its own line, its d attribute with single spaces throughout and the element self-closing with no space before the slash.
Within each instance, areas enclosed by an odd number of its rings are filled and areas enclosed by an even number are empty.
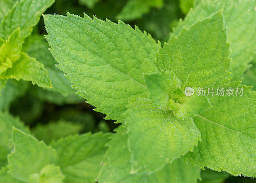
<svg viewBox="0 0 256 183">
<path fill-rule="evenodd" d="M 62 175 L 59 166 L 54 164 L 45 165 L 39 173 L 29 176 L 29 183 L 62 183 L 65 177 Z"/>
</svg>

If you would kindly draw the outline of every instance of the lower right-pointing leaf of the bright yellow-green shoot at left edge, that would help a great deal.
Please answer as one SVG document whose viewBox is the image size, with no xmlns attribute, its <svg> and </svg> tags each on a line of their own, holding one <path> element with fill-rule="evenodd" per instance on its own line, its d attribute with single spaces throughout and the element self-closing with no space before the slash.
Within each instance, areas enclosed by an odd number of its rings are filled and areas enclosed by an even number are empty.
<svg viewBox="0 0 256 183">
<path fill-rule="evenodd" d="M 52 87 L 48 72 L 44 65 L 31 58 L 27 53 L 20 52 L 20 58 L 12 64 L 12 68 L 0 74 L 2 79 L 16 79 L 32 81 L 39 87 Z"/>
</svg>

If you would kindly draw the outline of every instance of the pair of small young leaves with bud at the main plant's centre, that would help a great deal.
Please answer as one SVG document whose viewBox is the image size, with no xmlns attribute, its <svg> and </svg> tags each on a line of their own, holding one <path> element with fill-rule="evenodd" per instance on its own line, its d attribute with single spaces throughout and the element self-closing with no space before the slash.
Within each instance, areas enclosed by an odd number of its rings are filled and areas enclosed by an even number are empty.
<svg viewBox="0 0 256 183">
<path fill-rule="evenodd" d="M 180 80 L 173 72 L 144 74 L 149 97 L 159 109 L 170 111 L 180 119 L 187 119 L 210 108 L 207 96 L 185 96 L 180 89 Z"/>
</svg>

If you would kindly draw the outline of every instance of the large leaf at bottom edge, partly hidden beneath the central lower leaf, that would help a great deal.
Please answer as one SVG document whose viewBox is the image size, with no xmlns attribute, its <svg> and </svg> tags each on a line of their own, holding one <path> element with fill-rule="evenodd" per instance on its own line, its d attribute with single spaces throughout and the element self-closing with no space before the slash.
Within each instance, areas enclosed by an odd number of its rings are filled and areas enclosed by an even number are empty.
<svg viewBox="0 0 256 183">
<path fill-rule="evenodd" d="M 200 178 L 200 169 L 186 164 L 183 158 L 176 159 L 172 164 L 166 164 L 161 170 L 148 175 L 147 173 L 130 174 L 131 153 L 127 147 L 128 135 L 121 125 L 115 129 L 107 143 L 108 150 L 104 155 L 103 166 L 99 172 L 99 182 L 172 182 L 172 183 L 196 183 Z"/>
</svg>

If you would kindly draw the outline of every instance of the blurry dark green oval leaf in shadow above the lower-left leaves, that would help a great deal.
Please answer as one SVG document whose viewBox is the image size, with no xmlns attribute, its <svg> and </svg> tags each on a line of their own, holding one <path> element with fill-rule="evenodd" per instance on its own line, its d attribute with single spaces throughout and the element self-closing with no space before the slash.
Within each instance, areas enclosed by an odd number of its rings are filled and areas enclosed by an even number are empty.
<svg viewBox="0 0 256 183">
<path fill-rule="evenodd" d="M 82 124 L 60 120 L 44 125 L 38 124 L 32 130 L 32 133 L 39 141 L 49 144 L 52 140 L 58 140 L 60 137 L 79 133 L 82 129 Z"/>
</svg>

